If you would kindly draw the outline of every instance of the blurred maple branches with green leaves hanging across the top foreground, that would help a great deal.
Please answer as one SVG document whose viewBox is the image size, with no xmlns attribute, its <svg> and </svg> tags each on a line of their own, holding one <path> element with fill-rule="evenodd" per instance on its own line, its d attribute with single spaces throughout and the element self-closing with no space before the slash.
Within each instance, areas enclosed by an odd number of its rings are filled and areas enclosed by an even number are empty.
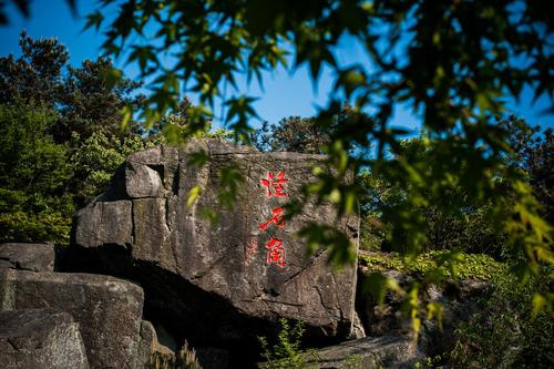
<svg viewBox="0 0 554 369">
<path fill-rule="evenodd" d="M 316 83 L 326 68 L 334 89 L 316 117 L 318 127 L 332 126 L 339 101 L 351 104 L 351 114 L 330 136 L 330 171 L 311 185 L 312 195 L 331 201 L 341 215 L 353 212 L 352 197 L 361 195 L 361 188 L 342 185 L 346 172 L 366 168 L 390 178 L 406 188 L 406 202 L 386 209 L 384 218 L 398 225 L 391 243 L 414 257 L 427 239 L 424 209 L 452 206 L 437 199 L 458 178 L 470 198 L 491 199 L 493 207 L 513 202 L 509 214 L 492 214 L 505 229 L 520 277 L 554 263 L 552 227 L 521 171 L 503 165 L 513 151 L 494 120 L 505 112 L 504 98 L 519 98 L 526 86 L 535 100 L 553 101 L 554 38 L 540 2 L 103 1 L 101 10 L 109 9 L 117 10 L 113 20 L 98 11 L 86 27 L 105 30 L 103 50 L 137 64 L 148 81 L 152 94 L 141 111 L 147 129 L 176 110 L 182 94 L 194 93 L 198 112 L 213 115 L 218 103 L 227 110 L 226 126 L 248 141 L 258 115 L 255 96 L 239 91 L 238 75 L 261 84 L 265 71 L 307 65 Z M 360 45 L 369 63 L 340 63 L 342 42 Z M 399 104 L 422 123 L 429 141 L 424 161 L 406 155 L 406 131 L 390 126 Z M 189 135 L 202 121 L 202 114 L 191 119 Z M 544 290 L 535 300 L 548 303 L 551 294 Z"/>
</svg>

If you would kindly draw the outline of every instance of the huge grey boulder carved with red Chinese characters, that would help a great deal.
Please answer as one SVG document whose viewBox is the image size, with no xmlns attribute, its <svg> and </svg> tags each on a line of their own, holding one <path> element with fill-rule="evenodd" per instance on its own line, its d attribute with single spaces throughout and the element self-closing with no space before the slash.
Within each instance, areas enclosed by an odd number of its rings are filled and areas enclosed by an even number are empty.
<svg viewBox="0 0 554 369">
<path fill-rule="evenodd" d="M 188 164 L 198 150 L 209 157 L 201 168 Z M 356 269 L 331 273 L 327 253 L 308 257 L 295 235 L 308 222 L 334 224 L 357 247 L 358 218 L 337 221 L 329 205 L 281 218 L 283 205 L 314 180 L 311 167 L 321 161 L 215 140 L 133 154 L 110 191 L 79 212 L 73 250 L 96 258 L 109 273 L 138 280 L 146 308 L 163 311 L 165 326 L 188 337 L 193 332 L 201 346 L 204 338 L 258 335 L 253 327 L 279 317 L 305 321 L 314 336 L 347 337 Z M 236 174 L 244 181 L 228 208 L 220 189 L 233 188 L 226 178 Z M 196 186 L 202 195 L 187 206 Z M 211 213 L 218 214 L 214 226 L 203 216 Z"/>
</svg>

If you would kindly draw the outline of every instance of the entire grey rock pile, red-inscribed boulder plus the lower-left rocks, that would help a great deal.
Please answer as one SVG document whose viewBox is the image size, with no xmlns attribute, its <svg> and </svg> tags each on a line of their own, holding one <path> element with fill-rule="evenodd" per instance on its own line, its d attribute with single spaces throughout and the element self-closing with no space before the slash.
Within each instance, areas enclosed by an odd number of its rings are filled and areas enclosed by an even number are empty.
<svg viewBox="0 0 554 369">
<path fill-rule="evenodd" d="M 204 166 L 192 164 L 199 151 Z M 357 247 L 358 218 L 315 204 L 285 217 L 322 161 L 214 140 L 131 155 L 78 213 L 69 248 L 54 257 L 53 245 L 0 245 L 2 362 L 143 368 L 170 351 L 160 342 L 175 350 L 186 339 L 204 368 L 254 365 L 256 338 L 281 317 L 304 321 L 315 341 L 349 337 L 356 268 L 334 273 L 328 253 L 308 255 L 296 234 L 332 224 Z"/>
</svg>

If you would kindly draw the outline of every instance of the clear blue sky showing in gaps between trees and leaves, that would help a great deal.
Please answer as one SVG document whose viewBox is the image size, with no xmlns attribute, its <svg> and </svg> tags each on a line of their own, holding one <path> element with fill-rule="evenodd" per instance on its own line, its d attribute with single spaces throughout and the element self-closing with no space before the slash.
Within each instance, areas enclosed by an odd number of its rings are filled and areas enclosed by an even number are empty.
<svg viewBox="0 0 554 369">
<path fill-rule="evenodd" d="M 78 1 L 79 16 L 84 17 L 94 9 L 95 1 Z M 23 19 L 13 8 L 8 7 L 10 24 L 0 27 L 0 55 L 9 53 L 19 54 L 19 34 L 22 29 L 33 38 L 55 37 L 68 47 L 71 54 L 71 64 L 78 65 L 85 59 L 95 59 L 100 55 L 102 43 L 101 34 L 94 31 L 82 32 L 84 21 L 82 18 L 72 17 L 64 0 L 35 0 L 31 4 L 31 18 Z M 339 50 L 338 59 L 341 63 L 365 60 L 363 52 L 352 43 L 345 42 Z M 123 68 L 131 78 L 136 76 L 132 68 Z M 242 85 L 245 85 L 243 83 Z M 310 116 L 317 111 L 317 105 L 324 105 L 332 82 L 330 73 L 322 72 L 315 89 L 305 68 L 293 75 L 284 70 L 267 74 L 264 81 L 264 91 L 256 83 L 250 86 L 250 94 L 259 96 L 256 109 L 263 120 L 277 123 L 289 115 Z M 521 102 L 510 101 L 507 107 L 519 116 L 524 117 L 530 124 L 543 127 L 554 127 L 554 115 L 538 115 L 536 112 L 548 105 L 547 98 L 543 96 L 535 105 L 531 105 L 532 91 L 523 92 Z M 216 109 L 216 115 L 219 110 Z M 411 129 L 419 126 L 417 116 L 402 106 L 394 112 L 393 125 Z"/>
</svg>

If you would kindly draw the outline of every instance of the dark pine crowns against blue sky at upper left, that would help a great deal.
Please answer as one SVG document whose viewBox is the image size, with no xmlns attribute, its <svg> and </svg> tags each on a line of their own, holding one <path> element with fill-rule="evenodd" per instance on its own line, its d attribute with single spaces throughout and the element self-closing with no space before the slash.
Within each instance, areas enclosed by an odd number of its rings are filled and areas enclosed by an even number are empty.
<svg viewBox="0 0 554 369">
<path fill-rule="evenodd" d="M 109 83 L 112 62 L 103 58 L 85 60 L 79 68 L 69 65 L 69 52 L 55 39 L 33 40 L 23 31 L 19 44 L 19 58 L 0 58 L 0 102 L 52 109 L 57 113 L 51 127 L 55 141 L 73 147 L 93 132 L 124 135 L 123 107 L 141 106 L 143 96 L 136 93 L 141 83 L 126 78 Z"/>
</svg>

